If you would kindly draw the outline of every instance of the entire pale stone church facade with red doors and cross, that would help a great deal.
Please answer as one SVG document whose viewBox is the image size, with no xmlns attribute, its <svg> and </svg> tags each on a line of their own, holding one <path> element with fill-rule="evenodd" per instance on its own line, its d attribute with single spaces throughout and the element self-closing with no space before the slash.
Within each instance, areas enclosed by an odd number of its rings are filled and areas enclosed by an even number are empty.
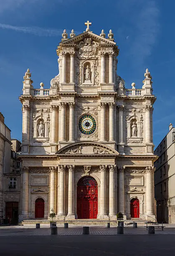
<svg viewBox="0 0 175 256">
<path fill-rule="evenodd" d="M 119 49 L 90 31 L 63 31 L 58 75 L 34 89 L 25 72 L 20 220 L 154 219 L 152 77 L 125 88 Z"/>
</svg>

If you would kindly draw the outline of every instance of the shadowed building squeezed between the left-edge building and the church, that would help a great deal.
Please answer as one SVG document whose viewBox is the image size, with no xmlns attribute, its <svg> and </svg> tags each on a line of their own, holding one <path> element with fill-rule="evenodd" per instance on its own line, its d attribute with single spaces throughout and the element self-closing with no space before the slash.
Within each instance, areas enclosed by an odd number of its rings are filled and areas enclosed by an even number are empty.
<svg viewBox="0 0 175 256">
<path fill-rule="evenodd" d="M 12 139 L 10 170 L 4 175 L 4 207 L 5 219 L 10 219 L 10 223 L 18 223 L 18 213 L 20 205 L 20 174 L 21 163 L 18 155 L 21 153 L 21 143 Z"/>
</svg>

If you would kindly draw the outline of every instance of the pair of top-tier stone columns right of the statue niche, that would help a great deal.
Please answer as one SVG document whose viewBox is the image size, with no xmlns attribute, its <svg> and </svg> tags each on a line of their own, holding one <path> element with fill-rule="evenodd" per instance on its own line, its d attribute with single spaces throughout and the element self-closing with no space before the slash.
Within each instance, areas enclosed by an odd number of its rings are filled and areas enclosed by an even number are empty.
<svg viewBox="0 0 175 256">
<path fill-rule="evenodd" d="M 105 83 L 105 52 L 101 52 L 101 84 Z M 109 84 L 113 83 L 113 53 L 109 53 Z"/>
</svg>

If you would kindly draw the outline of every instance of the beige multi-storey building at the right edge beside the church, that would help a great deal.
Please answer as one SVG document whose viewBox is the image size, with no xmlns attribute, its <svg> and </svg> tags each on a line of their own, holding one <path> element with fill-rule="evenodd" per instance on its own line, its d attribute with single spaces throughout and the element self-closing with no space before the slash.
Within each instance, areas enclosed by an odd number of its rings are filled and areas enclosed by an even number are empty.
<svg viewBox="0 0 175 256">
<path fill-rule="evenodd" d="M 154 153 L 159 156 L 155 161 L 157 221 L 175 223 L 175 128 L 171 123 Z"/>
</svg>

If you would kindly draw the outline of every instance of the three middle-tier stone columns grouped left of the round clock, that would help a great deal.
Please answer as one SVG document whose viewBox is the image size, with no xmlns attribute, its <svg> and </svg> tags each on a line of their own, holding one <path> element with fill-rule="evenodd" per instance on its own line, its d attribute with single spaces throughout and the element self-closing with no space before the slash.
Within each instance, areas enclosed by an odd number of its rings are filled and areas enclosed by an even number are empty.
<svg viewBox="0 0 175 256">
<path fill-rule="evenodd" d="M 61 141 L 66 141 L 66 102 L 61 102 Z M 74 102 L 69 102 L 69 141 L 74 141 Z M 56 113 L 58 106 L 52 105 L 52 142 L 56 142 Z"/>
</svg>

